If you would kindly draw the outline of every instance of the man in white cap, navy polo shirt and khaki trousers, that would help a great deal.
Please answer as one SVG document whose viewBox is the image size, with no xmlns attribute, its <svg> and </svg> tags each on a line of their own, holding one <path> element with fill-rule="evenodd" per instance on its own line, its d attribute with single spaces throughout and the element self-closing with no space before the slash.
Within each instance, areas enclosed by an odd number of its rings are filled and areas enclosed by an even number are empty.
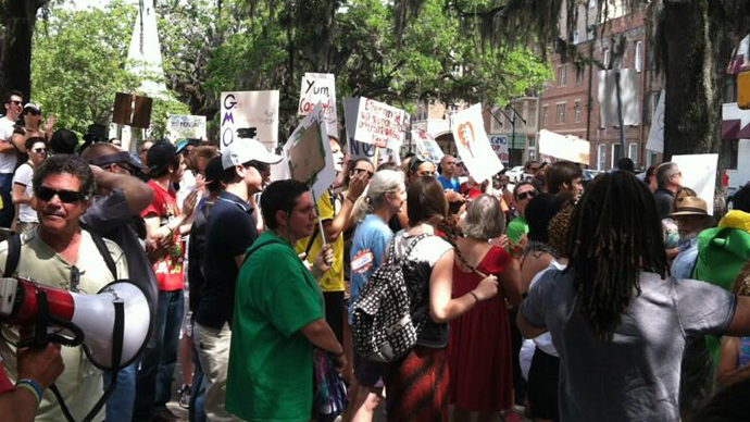
<svg viewBox="0 0 750 422">
<path fill-rule="evenodd" d="M 230 421 L 224 410 L 229 363 L 235 284 L 246 250 L 258 237 L 250 198 L 263 189 L 270 165 L 282 161 L 255 139 L 240 138 L 222 151 L 224 190 L 211 209 L 205 226 L 205 281 L 201 291 L 193 342 L 205 383 L 204 410 L 209 421 Z"/>
</svg>

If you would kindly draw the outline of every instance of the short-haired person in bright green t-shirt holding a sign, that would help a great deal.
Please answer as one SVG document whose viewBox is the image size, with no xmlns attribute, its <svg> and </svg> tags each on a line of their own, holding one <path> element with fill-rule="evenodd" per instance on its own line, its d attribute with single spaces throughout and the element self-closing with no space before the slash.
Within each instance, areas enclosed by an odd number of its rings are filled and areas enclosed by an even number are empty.
<svg viewBox="0 0 750 422">
<path fill-rule="evenodd" d="M 265 189 L 261 208 L 266 232 L 237 277 L 226 410 L 248 421 L 308 421 L 313 347 L 330 353 L 337 368 L 346 365 L 323 319 L 323 294 L 293 249 L 312 234 L 315 206 L 303 184 L 279 181 Z M 320 270 L 327 270 L 321 261 Z"/>
</svg>

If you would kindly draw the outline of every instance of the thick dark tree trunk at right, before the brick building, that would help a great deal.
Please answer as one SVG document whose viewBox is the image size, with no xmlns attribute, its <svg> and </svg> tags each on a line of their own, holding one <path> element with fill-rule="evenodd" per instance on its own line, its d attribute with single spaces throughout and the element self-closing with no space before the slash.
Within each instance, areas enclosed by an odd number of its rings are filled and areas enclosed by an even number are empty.
<svg viewBox="0 0 750 422">
<path fill-rule="evenodd" d="M 720 151 L 724 78 L 732 52 L 725 23 L 720 1 L 664 1 L 665 161 L 673 154 Z"/>
</svg>

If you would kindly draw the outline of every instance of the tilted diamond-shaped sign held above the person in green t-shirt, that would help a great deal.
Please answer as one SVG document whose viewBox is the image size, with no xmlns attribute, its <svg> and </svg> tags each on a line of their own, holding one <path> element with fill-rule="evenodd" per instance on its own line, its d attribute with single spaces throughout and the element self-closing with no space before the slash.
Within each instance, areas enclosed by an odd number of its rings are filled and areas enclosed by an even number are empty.
<svg viewBox="0 0 750 422">
<path fill-rule="evenodd" d="M 310 186 L 317 200 L 336 179 L 323 104 L 317 103 L 284 145 L 289 176 Z"/>
</svg>

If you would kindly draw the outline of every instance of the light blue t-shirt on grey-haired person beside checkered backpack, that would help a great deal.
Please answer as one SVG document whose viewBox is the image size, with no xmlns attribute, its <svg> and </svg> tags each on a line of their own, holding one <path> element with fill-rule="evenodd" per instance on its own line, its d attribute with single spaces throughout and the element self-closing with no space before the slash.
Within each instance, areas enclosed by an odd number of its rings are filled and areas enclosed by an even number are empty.
<svg viewBox="0 0 750 422">
<path fill-rule="evenodd" d="M 393 232 L 390 231 L 379 216 L 367 214 L 360 223 L 351 240 L 351 299 L 353 302 L 360 289 L 370 276 L 383 263 L 383 256 Z M 349 323 L 351 324 L 352 307 L 349 307 Z"/>
</svg>

